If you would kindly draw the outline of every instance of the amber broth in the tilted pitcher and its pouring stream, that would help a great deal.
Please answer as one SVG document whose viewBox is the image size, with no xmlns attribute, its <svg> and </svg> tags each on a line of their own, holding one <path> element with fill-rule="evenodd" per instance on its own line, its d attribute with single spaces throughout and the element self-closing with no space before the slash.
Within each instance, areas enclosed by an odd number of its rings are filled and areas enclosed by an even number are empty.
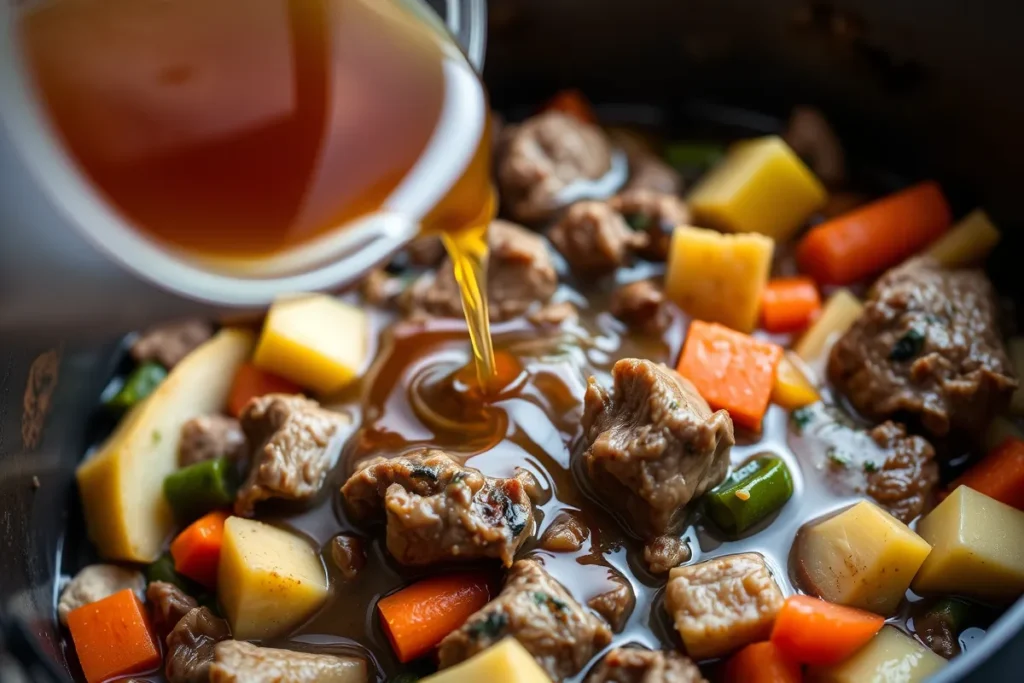
<svg viewBox="0 0 1024 683">
<path fill-rule="evenodd" d="M 353 219 L 400 211 L 392 198 L 417 172 L 447 187 L 408 218 L 444 237 L 490 377 L 488 110 L 447 37 L 396 0 L 51 0 L 20 29 L 72 159 L 127 224 L 184 258 L 329 258 Z M 455 130 L 480 134 L 450 143 Z"/>
</svg>

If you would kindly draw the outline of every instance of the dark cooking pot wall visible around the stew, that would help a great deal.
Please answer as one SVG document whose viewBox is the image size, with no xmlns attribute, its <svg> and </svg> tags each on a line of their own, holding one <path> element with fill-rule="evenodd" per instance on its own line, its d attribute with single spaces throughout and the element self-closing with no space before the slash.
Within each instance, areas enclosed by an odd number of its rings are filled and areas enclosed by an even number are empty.
<svg viewBox="0 0 1024 683">
<path fill-rule="evenodd" d="M 575 86 L 598 102 L 652 104 L 641 112 L 668 126 L 771 130 L 792 104 L 817 104 L 855 158 L 927 169 L 954 202 L 985 206 L 1006 231 L 993 279 L 1021 301 L 1022 26 L 1024 3 L 998 0 L 492 0 L 486 79 L 498 109 Z M 5 683 L 67 676 L 54 578 L 65 530 L 78 527 L 74 467 L 117 357 L 116 342 L 81 338 L 0 331 Z M 1024 600 L 935 680 L 1019 681 L 1022 670 Z"/>
</svg>

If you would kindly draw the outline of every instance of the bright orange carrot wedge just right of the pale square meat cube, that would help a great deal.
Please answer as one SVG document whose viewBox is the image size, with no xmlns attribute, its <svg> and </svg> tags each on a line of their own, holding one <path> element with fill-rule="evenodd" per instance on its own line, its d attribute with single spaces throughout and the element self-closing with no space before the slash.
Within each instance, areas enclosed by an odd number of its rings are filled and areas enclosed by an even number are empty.
<svg viewBox="0 0 1024 683">
<path fill-rule="evenodd" d="M 793 595 L 775 616 L 771 642 L 792 659 L 824 667 L 866 645 L 885 622 L 884 616 L 862 609 Z"/>
</svg>

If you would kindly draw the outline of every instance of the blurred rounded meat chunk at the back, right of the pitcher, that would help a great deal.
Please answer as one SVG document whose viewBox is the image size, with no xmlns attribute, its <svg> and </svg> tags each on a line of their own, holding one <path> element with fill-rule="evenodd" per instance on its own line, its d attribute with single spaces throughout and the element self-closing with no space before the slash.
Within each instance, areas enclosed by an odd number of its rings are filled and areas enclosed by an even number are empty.
<svg viewBox="0 0 1024 683">
<path fill-rule="evenodd" d="M 550 218 L 566 187 L 611 169 L 611 143 L 597 126 L 561 112 L 543 112 L 507 132 L 499 145 L 502 205 L 523 222 Z"/>
</svg>

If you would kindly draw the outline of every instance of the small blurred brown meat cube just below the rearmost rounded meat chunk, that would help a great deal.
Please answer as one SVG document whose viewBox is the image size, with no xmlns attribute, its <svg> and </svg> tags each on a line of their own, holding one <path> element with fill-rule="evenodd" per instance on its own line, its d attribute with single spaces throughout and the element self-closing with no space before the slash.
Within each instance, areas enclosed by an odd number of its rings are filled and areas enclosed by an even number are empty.
<svg viewBox="0 0 1024 683">
<path fill-rule="evenodd" d="M 605 202 L 577 202 L 548 238 L 572 271 L 585 278 L 614 272 L 648 244 L 645 232 L 634 231 Z"/>
</svg>

